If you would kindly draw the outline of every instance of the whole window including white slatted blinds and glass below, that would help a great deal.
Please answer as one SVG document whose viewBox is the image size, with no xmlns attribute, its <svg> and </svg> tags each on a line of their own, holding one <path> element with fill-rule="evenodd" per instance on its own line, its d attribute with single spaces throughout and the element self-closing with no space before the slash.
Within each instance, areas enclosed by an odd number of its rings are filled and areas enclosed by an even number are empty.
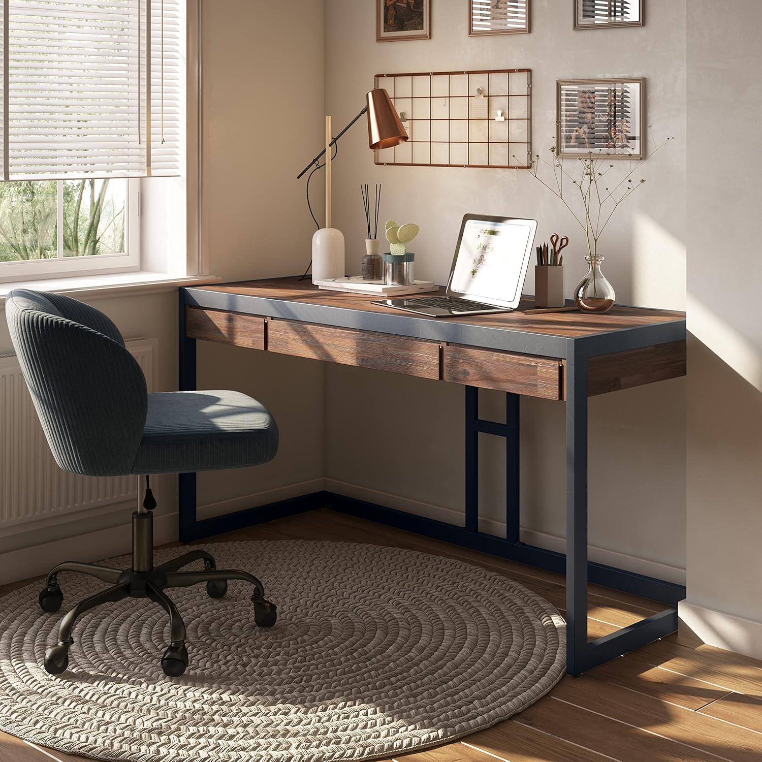
<svg viewBox="0 0 762 762">
<path fill-rule="evenodd" d="M 137 178 L 181 173 L 183 5 L 0 3 L 0 280 L 139 267 Z"/>
</svg>

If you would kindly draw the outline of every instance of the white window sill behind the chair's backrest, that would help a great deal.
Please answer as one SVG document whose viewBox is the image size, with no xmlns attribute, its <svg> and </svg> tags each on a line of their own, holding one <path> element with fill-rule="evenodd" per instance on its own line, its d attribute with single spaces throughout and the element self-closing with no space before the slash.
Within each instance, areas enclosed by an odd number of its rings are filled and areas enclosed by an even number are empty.
<svg viewBox="0 0 762 762">
<path fill-rule="evenodd" d="M 5 296 L 14 288 L 55 291 L 69 296 L 136 296 L 143 293 L 172 291 L 184 286 L 219 283 L 220 280 L 220 278 L 211 275 L 178 277 L 165 273 L 143 271 L 0 283 L 0 306 L 5 306 Z"/>
</svg>

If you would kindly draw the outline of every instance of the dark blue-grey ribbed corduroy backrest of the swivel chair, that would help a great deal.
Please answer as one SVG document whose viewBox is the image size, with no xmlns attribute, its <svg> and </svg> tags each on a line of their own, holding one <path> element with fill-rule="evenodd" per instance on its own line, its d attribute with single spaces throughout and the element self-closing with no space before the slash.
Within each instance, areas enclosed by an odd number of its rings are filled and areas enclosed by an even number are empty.
<svg viewBox="0 0 762 762">
<path fill-rule="evenodd" d="M 5 317 L 56 463 L 130 474 L 146 424 L 146 378 L 110 319 L 69 296 L 15 289 Z"/>
</svg>

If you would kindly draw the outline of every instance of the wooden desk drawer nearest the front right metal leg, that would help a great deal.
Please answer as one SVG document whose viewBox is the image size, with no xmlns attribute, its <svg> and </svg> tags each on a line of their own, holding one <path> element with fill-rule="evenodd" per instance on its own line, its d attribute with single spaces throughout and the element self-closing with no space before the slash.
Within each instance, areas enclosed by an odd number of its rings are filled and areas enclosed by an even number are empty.
<svg viewBox="0 0 762 762">
<path fill-rule="evenodd" d="M 546 357 L 446 344 L 442 378 L 543 399 L 562 399 L 562 363 Z"/>
</svg>

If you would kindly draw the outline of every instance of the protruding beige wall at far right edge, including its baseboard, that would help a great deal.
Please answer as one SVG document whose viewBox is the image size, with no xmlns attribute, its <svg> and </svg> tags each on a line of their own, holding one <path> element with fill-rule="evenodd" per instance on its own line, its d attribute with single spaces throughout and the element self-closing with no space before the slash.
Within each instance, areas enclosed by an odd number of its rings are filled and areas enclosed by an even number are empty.
<svg viewBox="0 0 762 762">
<path fill-rule="evenodd" d="M 762 118 L 757 31 L 762 4 L 688 17 L 688 600 L 684 622 L 706 642 L 762 658 L 762 162 L 740 144 L 717 155 L 728 124 Z"/>
</svg>

